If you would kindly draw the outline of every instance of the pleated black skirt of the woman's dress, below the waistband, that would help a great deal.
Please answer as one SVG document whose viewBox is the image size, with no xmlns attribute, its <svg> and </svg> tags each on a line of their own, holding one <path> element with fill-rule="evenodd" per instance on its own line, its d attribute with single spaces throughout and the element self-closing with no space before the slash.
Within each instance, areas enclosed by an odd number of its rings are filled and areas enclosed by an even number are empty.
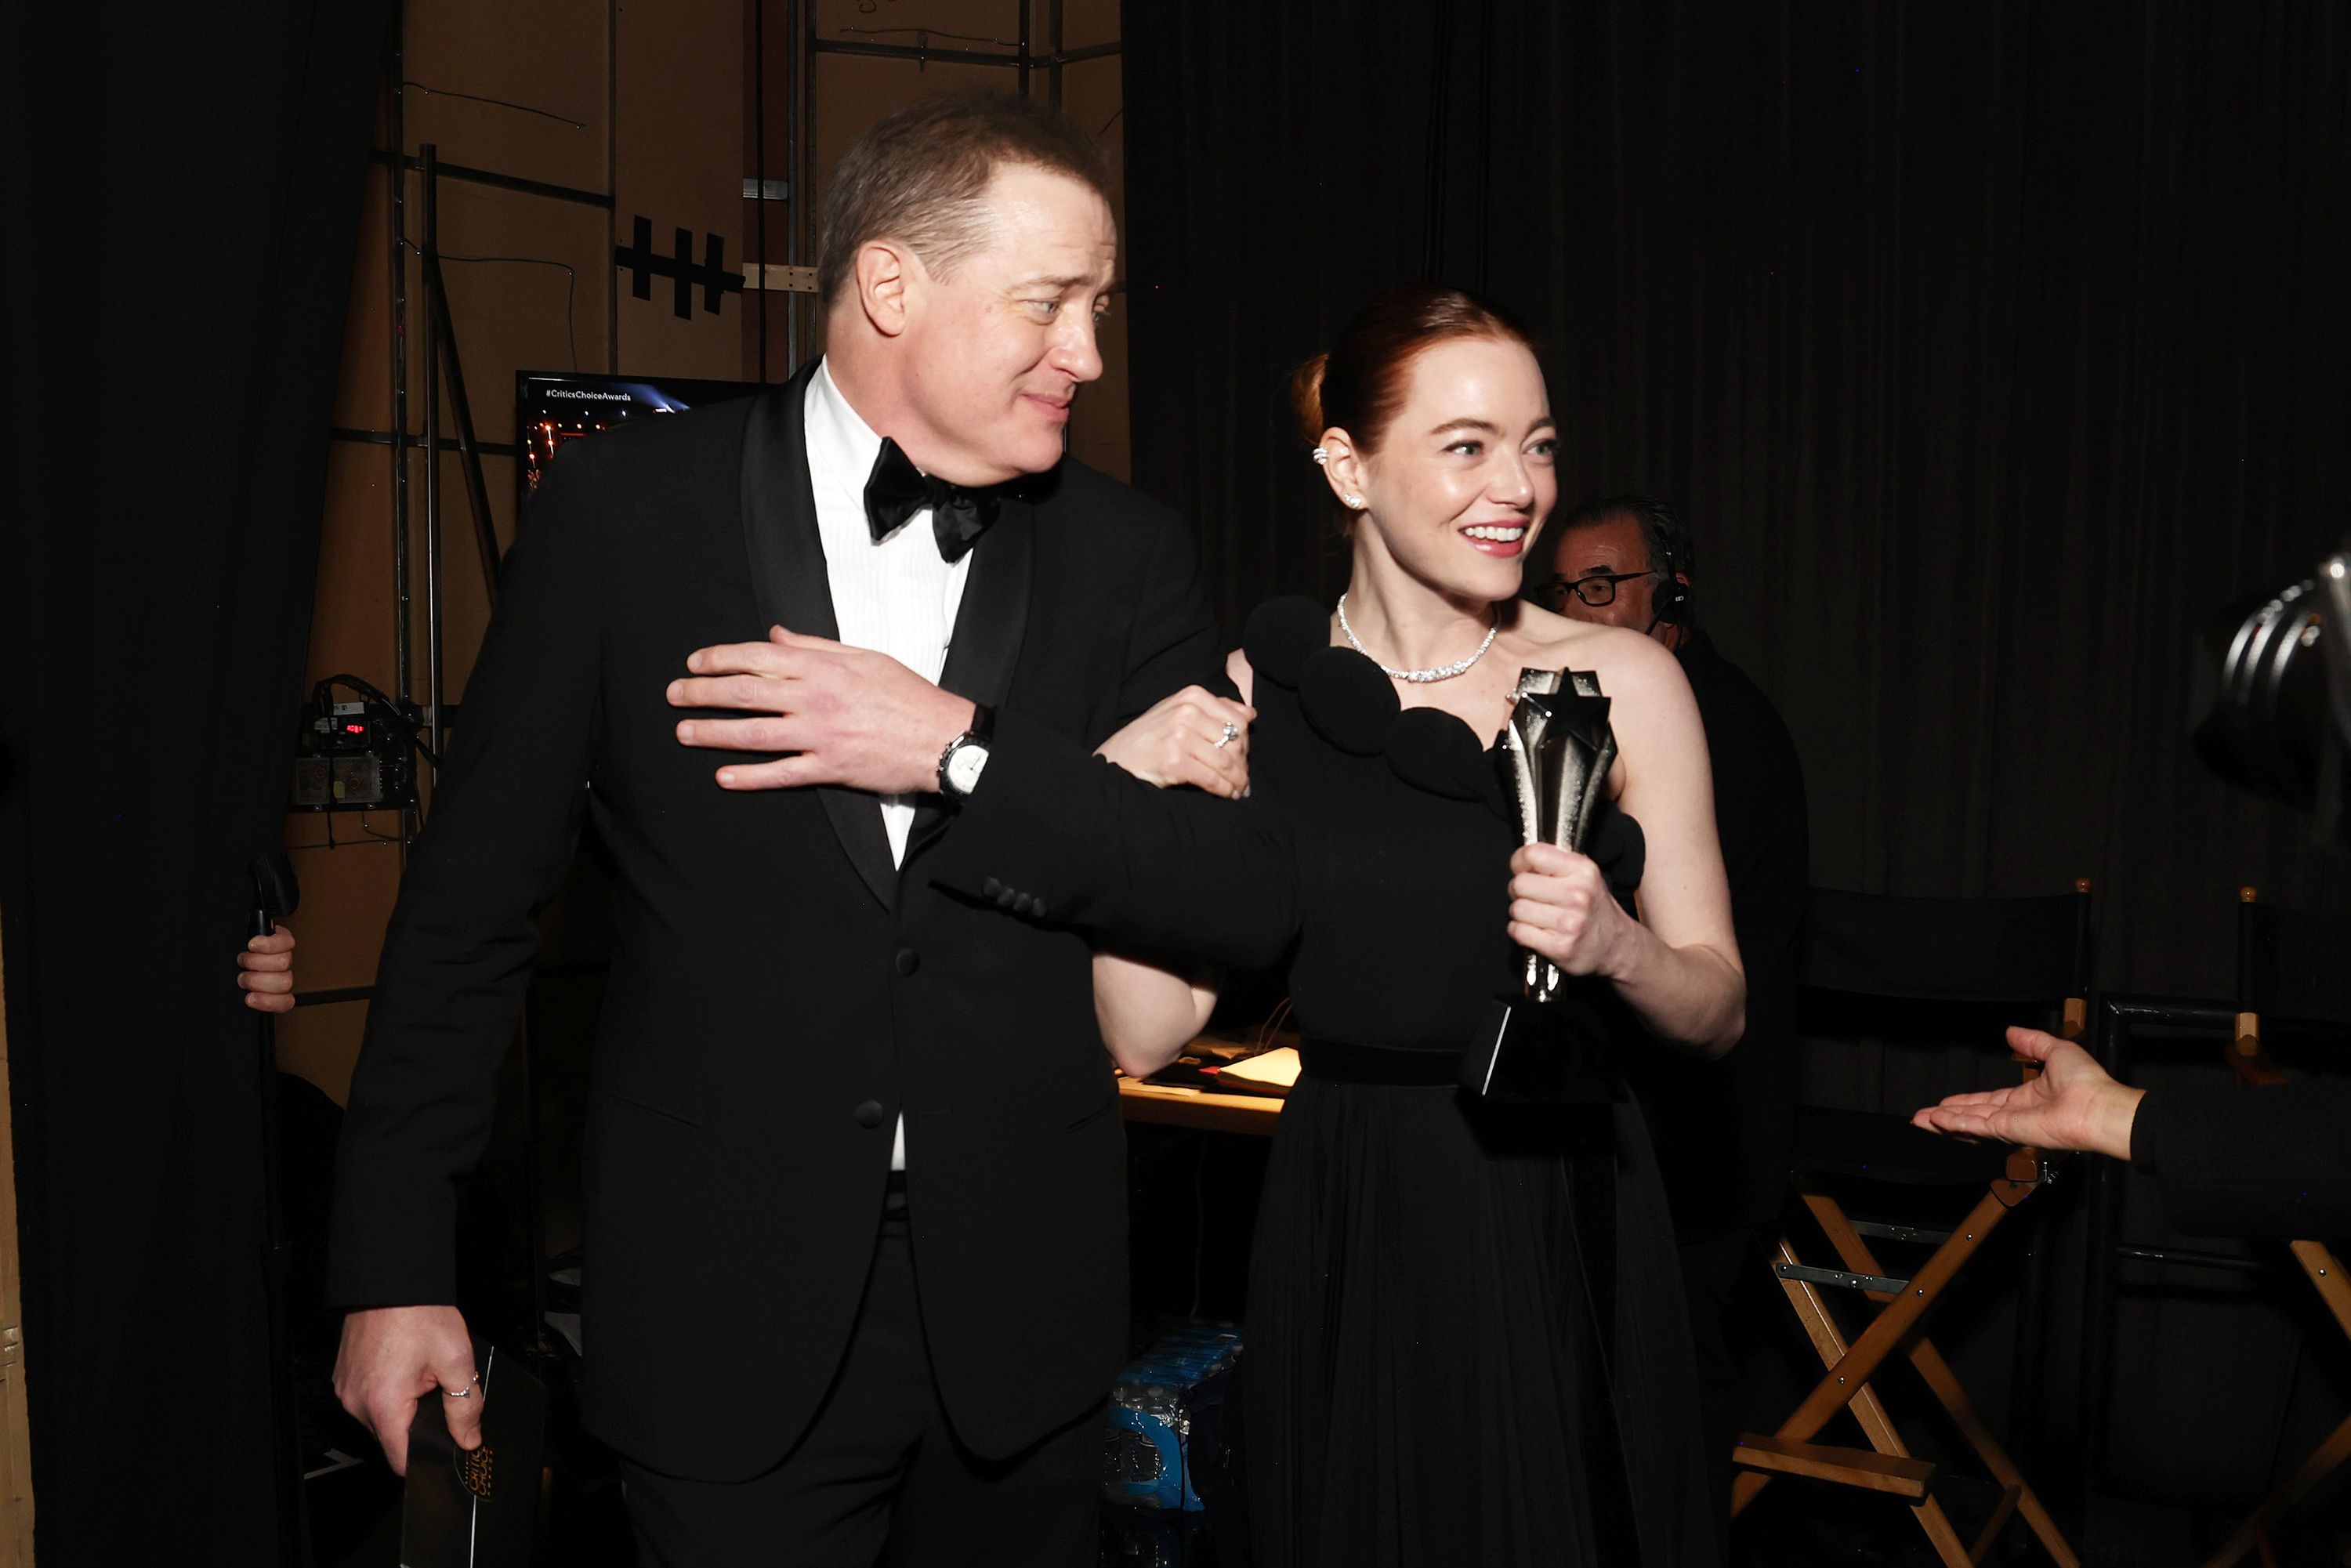
<svg viewBox="0 0 2351 1568">
<path fill-rule="evenodd" d="M 1298 1081 L 1248 1284 L 1258 1568 L 1615 1556 L 1594 1488 L 1625 1472 L 1594 1432 L 1610 1389 L 1568 1138 L 1451 1086 Z"/>
</svg>

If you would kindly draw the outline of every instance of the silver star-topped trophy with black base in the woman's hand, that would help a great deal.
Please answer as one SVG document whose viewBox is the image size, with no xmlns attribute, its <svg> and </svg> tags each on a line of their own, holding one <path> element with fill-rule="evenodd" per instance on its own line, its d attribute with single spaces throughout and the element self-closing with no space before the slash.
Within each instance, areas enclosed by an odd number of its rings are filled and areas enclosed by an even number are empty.
<svg viewBox="0 0 2351 1568">
<path fill-rule="evenodd" d="M 1519 839 L 1582 853 L 1615 764 L 1599 679 L 1587 670 L 1519 670 L 1495 764 Z M 1521 994 L 1493 1004 L 1462 1056 L 1460 1084 L 1491 1100 L 1603 1098 L 1589 1072 L 1599 1016 L 1570 994 L 1556 964 L 1538 952 L 1519 957 Z"/>
</svg>

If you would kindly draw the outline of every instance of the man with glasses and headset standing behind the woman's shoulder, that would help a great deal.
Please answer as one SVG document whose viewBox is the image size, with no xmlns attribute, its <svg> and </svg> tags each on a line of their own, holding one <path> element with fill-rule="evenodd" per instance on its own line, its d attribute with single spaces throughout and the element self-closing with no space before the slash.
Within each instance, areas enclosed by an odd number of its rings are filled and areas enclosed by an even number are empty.
<svg viewBox="0 0 2351 1568">
<path fill-rule="evenodd" d="M 1697 550 L 1662 501 L 1589 501 L 1545 534 L 1538 550 L 1547 555 L 1528 564 L 1528 592 L 1561 616 L 1629 625 L 1674 649 L 1714 759 L 1714 823 L 1747 964 L 1747 1034 L 1721 1060 L 1641 1051 L 1625 1070 L 1648 1107 L 1674 1206 L 1721 1509 L 1716 1537 L 1728 1540 L 1740 1429 L 1730 1298 L 1777 1222 L 1796 1107 L 1796 938 L 1810 856 L 1803 764 L 1770 698 L 1697 630 Z"/>
</svg>

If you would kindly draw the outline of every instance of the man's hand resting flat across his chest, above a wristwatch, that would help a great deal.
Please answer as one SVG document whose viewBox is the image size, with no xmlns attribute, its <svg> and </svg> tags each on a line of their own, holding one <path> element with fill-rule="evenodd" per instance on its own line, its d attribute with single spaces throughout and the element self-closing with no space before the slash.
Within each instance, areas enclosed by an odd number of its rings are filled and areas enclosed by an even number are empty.
<svg viewBox="0 0 2351 1568">
<path fill-rule="evenodd" d="M 938 755 L 971 729 L 966 698 L 940 691 L 889 654 L 802 637 L 729 642 L 686 656 L 672 708 L 731 708 L 750 719 L 682 719 L 677 738 L 719 752 L 797 752 L 729 762 L 722 790 L 849 785 L 875 795 L 938 788 Z"/>
</svg>

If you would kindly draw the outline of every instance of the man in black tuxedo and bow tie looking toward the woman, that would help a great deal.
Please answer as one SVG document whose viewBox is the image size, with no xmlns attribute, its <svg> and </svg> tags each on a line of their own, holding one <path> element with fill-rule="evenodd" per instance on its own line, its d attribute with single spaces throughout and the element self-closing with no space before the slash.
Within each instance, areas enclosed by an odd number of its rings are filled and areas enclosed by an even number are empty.
<svg viewBox="0 0 2351 1568">
<path fill-rule="evenodd" d="M 1041 106 L 891 115 L 828 195 L 825 357 L 543 480 L 346 1121 L 336 1387 L 395 1467 L 421 1396 L 475 1443 L 454 1185 L 585 816 L 616 936 L 583 1401 L 642 1556 L 1091 1561 L 1126 1218 L 1089 952 L 924 858 L 997 705 L 1091 745 L 1215 679 L 1180 520 L 1063 458 L 1100 374 L 1103 183 Z M 762 651 L 872 792 L 757 788 L 799 750 L 726 712 Z M 715 778 L 715 741 L 757 755 Z"/>
</svg>

